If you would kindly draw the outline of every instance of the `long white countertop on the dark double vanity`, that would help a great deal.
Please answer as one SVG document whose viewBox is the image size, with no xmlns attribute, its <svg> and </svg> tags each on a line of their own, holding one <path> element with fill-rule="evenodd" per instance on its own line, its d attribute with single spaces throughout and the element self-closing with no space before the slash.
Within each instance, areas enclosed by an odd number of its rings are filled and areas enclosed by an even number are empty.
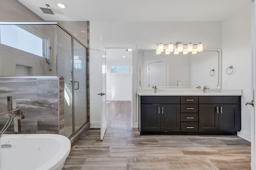
<svg viewBox="0 0 256 170">
<path fill-rule="evenodd" d="M 242 96 L 242 90 L 239 89 L 138 89 L 140 96 Z"/>
</svg>

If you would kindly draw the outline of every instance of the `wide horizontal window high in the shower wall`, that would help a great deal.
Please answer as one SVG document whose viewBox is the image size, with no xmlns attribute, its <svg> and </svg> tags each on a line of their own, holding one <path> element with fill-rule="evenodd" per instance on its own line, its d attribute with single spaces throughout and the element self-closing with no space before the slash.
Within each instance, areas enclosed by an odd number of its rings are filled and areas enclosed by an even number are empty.
<svg viewBox="0 0 256 170">
<path fill-rule="evenodd" d="M 49 38 L 29 26 L 1 25 L 0 43 L 49 59 Z"/>
</svg>

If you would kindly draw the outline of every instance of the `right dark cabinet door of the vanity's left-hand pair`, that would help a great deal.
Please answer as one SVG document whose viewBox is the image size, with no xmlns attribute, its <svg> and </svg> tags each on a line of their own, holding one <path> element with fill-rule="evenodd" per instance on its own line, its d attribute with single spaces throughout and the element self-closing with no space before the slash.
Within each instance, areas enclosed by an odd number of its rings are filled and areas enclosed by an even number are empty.
<svg viewBox="0 0 256 170">
<path fill-rule="evenodd" d="M 161 131 L 180 131 L 180 105 L 161 105 Z"/>
</svg>

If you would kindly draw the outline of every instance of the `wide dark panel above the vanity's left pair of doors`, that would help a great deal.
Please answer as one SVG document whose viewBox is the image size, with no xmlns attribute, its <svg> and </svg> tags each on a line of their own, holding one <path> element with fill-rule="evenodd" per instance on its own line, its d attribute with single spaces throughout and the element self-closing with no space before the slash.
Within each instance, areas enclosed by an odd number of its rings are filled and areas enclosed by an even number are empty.
<svg viewBox="0 0 256 170">
<path fill-rule="evenodd" d="M 180 104 L 180 96 L 140 96 L 141 104 Z"/>
</svg>

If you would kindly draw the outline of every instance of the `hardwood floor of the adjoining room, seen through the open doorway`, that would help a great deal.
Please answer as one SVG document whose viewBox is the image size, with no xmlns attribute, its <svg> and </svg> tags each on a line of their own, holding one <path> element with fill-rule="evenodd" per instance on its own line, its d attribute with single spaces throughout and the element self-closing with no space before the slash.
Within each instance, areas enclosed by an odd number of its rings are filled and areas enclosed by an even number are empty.
<svg viewBox="0 0 256 170">
<path fill-rule="evenodd" d="M 132 127 L 132 101 L 108 101 L 107 127 Z"/>
</svg>

